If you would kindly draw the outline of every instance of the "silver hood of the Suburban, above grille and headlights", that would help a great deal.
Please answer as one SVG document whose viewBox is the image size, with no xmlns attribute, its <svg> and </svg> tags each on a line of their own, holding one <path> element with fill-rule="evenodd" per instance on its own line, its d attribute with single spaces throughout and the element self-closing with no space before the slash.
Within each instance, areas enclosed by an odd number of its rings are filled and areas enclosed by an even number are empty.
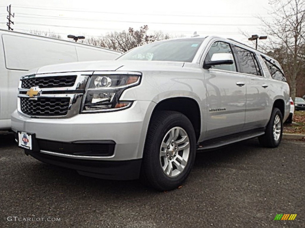
<svg viewBox="0 0 305 228">
<path fill-rule="evenodd" d="M 33 69 L 30 72 L 32 74 L 47 74 L 76 71 L 144 71 L 161 70 L 163 67 L 182 67 L 183 64 L 183 62 L 166 61 L 106 60 L 48 65 Z"/>
</svg>

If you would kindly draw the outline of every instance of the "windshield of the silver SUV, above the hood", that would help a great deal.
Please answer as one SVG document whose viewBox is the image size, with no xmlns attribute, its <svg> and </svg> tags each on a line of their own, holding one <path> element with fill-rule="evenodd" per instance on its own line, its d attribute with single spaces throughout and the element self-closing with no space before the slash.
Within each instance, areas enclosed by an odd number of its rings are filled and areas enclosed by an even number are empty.
<svg viewBox="0 0 305 228">
<path fill-rule="evenodd" d="M 119 60 L 192 62 L 204 38 L 167 40 L 137 47 Z"/>
</svg>

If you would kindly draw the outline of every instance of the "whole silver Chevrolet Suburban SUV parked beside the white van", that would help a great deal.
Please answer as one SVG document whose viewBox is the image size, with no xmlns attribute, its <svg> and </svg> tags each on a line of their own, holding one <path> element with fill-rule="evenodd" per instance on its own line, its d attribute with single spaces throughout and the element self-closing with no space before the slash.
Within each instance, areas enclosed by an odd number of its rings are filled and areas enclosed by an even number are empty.
<svg viewBox="0 0 305 228">
<path fill-rule="evenodd" d="M 276 60 L 233 40 L 193 37 L 32 71 L 20 80 L 12 129 L 40 161 L 170 190 L 198 150 L 254 137 L 277 147 L 289 108 Z"/>
</svg>

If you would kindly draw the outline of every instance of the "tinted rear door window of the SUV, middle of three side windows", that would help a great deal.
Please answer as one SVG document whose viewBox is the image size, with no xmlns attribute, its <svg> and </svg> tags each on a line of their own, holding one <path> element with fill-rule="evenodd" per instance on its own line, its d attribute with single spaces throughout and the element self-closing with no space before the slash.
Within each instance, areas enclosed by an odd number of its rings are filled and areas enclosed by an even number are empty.
<svg viewBox="0 0 305 228">
<path fill-rule="evenodd" d="M 252 51 L 235 46 L 236 54 L 241 68 L 241 73 L 261 75 L 260 68 Z"/>
</svg>

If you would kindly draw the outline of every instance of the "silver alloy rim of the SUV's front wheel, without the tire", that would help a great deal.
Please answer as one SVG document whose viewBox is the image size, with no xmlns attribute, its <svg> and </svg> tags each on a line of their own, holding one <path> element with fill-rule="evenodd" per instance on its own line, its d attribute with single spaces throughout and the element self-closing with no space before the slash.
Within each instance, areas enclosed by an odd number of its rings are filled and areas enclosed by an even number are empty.
<svg viewBox="0 0 305 228">
<path fill-rule="evenodd" d="M 160 146 L 160 164 L 168 177 L 182 173 L 188 162 L 190 141 L 181 127 L 173 127 L 164 136 Z"/>
</svg>

